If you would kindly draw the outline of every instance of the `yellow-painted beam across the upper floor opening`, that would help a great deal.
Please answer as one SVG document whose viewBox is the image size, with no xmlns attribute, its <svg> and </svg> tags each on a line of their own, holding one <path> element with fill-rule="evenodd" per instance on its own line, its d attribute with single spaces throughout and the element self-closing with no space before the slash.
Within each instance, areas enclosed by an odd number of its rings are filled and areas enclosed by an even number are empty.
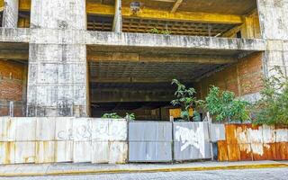
<svg viewBox="0 0 288 180">
<path fill-rule="evenodd" d="M 103 4 L 87 4 L 87 14 L 103 14 L 114 15 L 114 6 Z M 130 7 L 122 7 L 121 13 L 123 17 L 133 17 L 130 12 Z M 137 14 L 139 18 L 145 19 L 158 19 L 163 21 L 191 21 L 201 23 L 229 23 L 239 24 L 243 23 L 241 16 L 234 14 L 207 14 L 207 13 L 195 13 L 195 12 L 181 12 L 181 13 L 169 13 L 162 10 L 155 10 L 149 8 L 143 8 Z"/>
</svg>

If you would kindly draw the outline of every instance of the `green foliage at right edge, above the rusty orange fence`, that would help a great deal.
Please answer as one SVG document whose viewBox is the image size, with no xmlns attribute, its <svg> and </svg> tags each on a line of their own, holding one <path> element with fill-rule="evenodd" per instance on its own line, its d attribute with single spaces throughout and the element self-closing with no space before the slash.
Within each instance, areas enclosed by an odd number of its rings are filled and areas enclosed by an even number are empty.
<svg viewBox="0 0 288 180">
<path fill-rule="evenodd" d="M 257 124 L 288 125 L 288 77 L 280 67 L 272 69 L 275 75 L 264 79 L 261 99 L 256 103 L 254 112 Z"/>
</svg>

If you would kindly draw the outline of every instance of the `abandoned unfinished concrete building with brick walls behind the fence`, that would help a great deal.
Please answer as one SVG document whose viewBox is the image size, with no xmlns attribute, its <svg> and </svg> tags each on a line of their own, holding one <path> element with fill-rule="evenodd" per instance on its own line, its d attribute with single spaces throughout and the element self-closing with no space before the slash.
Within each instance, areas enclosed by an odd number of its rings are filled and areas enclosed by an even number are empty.
<svg viewBox="0 0 288 180">
<path fill-rule="evenodd" d="M 257 97 L 288 70 L 286 0 L 0 0 L 0 116 L 168 120 L 173 78 Z"/>
</svg>

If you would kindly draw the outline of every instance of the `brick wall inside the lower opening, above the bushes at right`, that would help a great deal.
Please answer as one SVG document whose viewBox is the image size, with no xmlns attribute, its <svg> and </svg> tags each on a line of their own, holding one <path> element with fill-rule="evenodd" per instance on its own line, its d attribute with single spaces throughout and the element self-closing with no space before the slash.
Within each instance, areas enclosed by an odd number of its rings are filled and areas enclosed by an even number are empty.
<svg viewBox="0 0 288 180">
<path fill-rule="evenodd" d="M 260 91 L 263 82 L 262 52 L 253 53 L 211 76 L 204 77 L 195 85 L 198 97 L 204 98 L 211 85 L 234 92 L 237 96 Z"/>
</svg>

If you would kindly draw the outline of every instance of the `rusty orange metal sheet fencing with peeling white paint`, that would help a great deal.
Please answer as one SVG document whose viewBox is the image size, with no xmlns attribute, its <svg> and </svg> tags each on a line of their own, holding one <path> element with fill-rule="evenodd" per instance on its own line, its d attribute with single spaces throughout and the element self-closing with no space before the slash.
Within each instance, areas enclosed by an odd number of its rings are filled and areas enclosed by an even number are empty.
<svg viewBox="0 0 288 180">
<path fill-rule="evenodd" d="M 288 154 L 286 127 L 254 126 L 251 124 L 225 125 L 225 141 L 218 141 L 218 159 L 284 160 Z M 227 144 L 227 152 L 225 151 Z"/>
</svg>

